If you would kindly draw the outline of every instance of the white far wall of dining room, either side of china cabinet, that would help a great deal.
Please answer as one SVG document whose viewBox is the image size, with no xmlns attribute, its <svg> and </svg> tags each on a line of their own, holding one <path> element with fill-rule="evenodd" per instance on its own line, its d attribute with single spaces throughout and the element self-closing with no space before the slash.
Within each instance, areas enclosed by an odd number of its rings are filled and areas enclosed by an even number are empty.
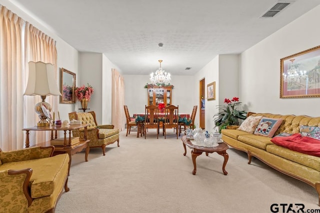
<svg viewBox="0 0 320 213">
<path fill-rule="evenodd" d="M 150 83 L 149 75 L 123 75 L 124 78 L 124 104 L 128 106 L 130 116 L 134 113 L 144 113 L 147 105 L 147 89 L 144 85 Z M 179 105 L 179 113 L 192 112 L 195 97 L 193 76 L 171 75 L 172 104 Z M 122 109 L 123 110 L 123 109 Z"/>
</svg>

